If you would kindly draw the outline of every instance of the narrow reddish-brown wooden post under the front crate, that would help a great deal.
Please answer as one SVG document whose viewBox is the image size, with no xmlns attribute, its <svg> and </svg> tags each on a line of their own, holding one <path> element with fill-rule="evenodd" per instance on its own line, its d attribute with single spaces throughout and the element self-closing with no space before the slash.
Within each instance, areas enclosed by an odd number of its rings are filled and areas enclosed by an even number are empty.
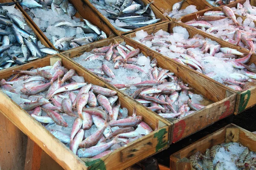
<svg viewBox="0 0 256 170">
<path fill-rule="evenodd" d="M 30 138 L 28 138 L 24 170 L 39 170 L 41 154 L 42 149 Z"/>
</svg>

